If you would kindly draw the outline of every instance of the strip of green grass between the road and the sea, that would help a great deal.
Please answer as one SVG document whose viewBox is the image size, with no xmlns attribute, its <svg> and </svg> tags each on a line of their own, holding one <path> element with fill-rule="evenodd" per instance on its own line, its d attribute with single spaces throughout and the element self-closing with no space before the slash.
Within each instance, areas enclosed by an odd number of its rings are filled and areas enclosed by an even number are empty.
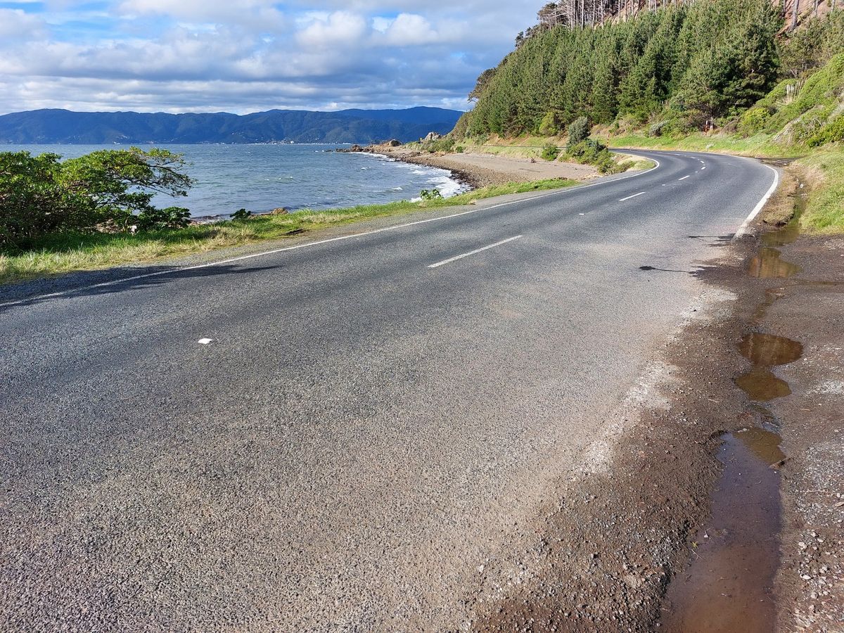
<svg viewBox="0 0 844 633">
<path fill-rule="evenodd" d="M 128 234 L 52 235 L 26 251 L 0 251 L 0 284 L 40 279 L 79 270 L 111 268 L 127 264 L 209 252 L 229 246 L 280 240 L 306 231 L 453 207 L 488 197 L 571 187 L 576 181 L 553 179 L 511 182 L 483 187 L 459 196 L 424 202 L 361 205 L 324 211 L 300 211 L 286 215 L 261 215 L 240 222 L 218 222 L 187 229 Z"/>
</svg>

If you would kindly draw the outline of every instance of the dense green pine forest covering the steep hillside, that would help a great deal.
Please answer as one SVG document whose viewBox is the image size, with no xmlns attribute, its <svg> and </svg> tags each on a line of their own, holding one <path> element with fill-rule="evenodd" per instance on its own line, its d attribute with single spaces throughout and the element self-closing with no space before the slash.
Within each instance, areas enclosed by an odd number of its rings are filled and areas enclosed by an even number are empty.
<svg viewBox="0 0 844 633">
<path fill-rule="evenodd" d="M 598 26 L 546 24 L 481 75 L 470 95 L 475 108 L 454 134 L 554 135 L 580 116 L 657 134 L 742 121 L 753 133 L 830 60 L 826 81 L 832 89 L 841 84 L 833 57 L 844 51 L 842 16 L 833 9 L 790 32 L 791 20 L 770 0 L 697 0 Z M 765 107 L 772 89 L 782 98 Z M 740 119 L 757 103 L 757 120 Z M 834 105 L 826 115 L 836 115 Z"/>
</svg>

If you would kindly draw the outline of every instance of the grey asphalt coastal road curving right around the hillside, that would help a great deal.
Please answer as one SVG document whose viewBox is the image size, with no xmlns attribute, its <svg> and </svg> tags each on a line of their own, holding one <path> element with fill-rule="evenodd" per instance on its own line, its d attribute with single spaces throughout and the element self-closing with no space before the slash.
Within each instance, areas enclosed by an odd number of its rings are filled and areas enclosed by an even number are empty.
<svg viewBox="0 0 844 633">
<path fill-rule="evenodd" d="M 637 154 L 659 167 L 0 298 L 0 630 L 465 627 L 774 181 Z"/>
</svg>

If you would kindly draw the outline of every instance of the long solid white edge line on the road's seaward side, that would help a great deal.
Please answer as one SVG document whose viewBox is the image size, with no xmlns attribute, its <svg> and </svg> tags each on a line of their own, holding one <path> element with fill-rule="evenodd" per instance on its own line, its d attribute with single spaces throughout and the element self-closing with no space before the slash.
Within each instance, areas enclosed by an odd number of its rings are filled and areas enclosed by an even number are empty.
<svg viewBox="0 0 844 633">
<path fill-rule="evenodd" d="M 441 216 L 436 217 L 436 218 L 420 219 L 420 220 L 417 220 L 415 222 L 406 222 L 403 225 L 386 226 L 383 229 L 369 230 L 369 231 L 365 231 L 364 233 L 352 233 L 350 235 L 340 235 L 339 237 L 330 237 L 327 240 L 309 241 L 309 242 L 306 242 L 305 244 L 297 244 L 296 246 L 284 246 L 283 248 L 275 248 L 272 251 L 262 251 L 262 252 L 252 253 L 250 255 L 241 255 L 241 257 L 231 257 L 230 259 L 224 259 L 224 260 L 221 260 L 219 262 L 208 262 L 208 263 L 204 263 L 204 264 L 197 264 L 196 266 L 186 266 L 186 267 L 183 267 L 183 268 L 171 268 L 170 270 L 160 270 L 160 271 L 157 271 L 155 273 L 143 273 L 143 274 L 139 274 L 139 275 L 134 275 L 133 277 L 124 277 L 122 279 L 111 279 L 111 281 L 104 281 L 104 282 L 101 282 L 100 284 L 92 284 L 92 285 L 89 285 L 89 286 L 80 286 L 79 288 L 71 288 L 71 289 L 67 289 L 67 290 L 59 290 L 58 292 L 51 292 L 47 295 L 35 295 L 35 296 L 32 296 L 32 297 L 27 297 L 26 299 L 6 301 L 5 303 L 0 303 L 0 307 L 17 306 L 18 304 L 26 303 L 27 301 L 52 299 L 54 297 L 61 297 L 61 296 L 64 296 L 64 295 L 69 295 L 73 292 L 79 292 L 80 290 L 93 289 L 93 288 L 106 288 L 107 286 L 116 285 L 116 284 L 123 284 L 127 281 L 138 281 L 138 279 L 149 279 L 151 277 L 160 277 L 161 275 L 174 274 L 174 273 L 184 273 L 184 272 L 187 272 L 189 270 L 198 270 L 200 268 L 213 268 L 214 266 L 223 266 L 223 265 L 228 264 L 228 263 L 243 262 L 246 259 L 252 259 L 253 257 L 263 257 L 265 255 L 275 255 L 276 253 L 279 253 L 279 252 L 295 251 L 296 249 L 299 249 L 299 248 L 308 248 L 310 246 L 319 246 L 321 244 L 327 244 L 328 242 L 332 242 L 332 241 L 351 240 L 351 239 L 354 239 L 354 238 L 363 237 L 365 235 L 375 235 L 376 233 L 383 233 L 384 231 L 387 231 L 387 230 L 404 229 L 404 228 L 407 228 L 408 226 L 425 225 L 429 222 L 439 222 L 439 221 L 444 220 L 444 219 L 459 218 L 461 215 L 476 214 L 479 211 L 489 211 L 492 208 L 506 207 L 506 206 L 509 206 L 511 204 L 527 203 L 527 202 L 530 202 L 531 200 L 538 200 L 538 199 L 543 198 L 543 197 L 559 196 L 559 195 L 564 194 L 564 193 L 580 191 L 581 189 L 588 189 L 589 187 L 599 187 L 600 185 L 608 185 L 611 182 L 625 181 L 625 180 L 628 180 L 629 178 L 636 178 L 637 176 L 644 176 L 645 174 L 649 174 L 653 170 L 659 169 L 659 167 L 661 166 L 661 163 L 655 158 L 647 158 L 647 157 L 644 157 L 644 156 L 640 156 L 638 154 L 626 154 L 626 155 L 633 156 L 635 158 L 639 158 L 639 159 L 643 159 L 643 160 L 652 160 L 654 163 L 656 163 L 656 166 L 652 167 L 649 170 L 640 171 L 638 174 L 631 174 L 630 176 L 623 176 L 621 178 L 614 178 L 613 180 L 607 180 L 607 181 L 592 182 L 592 184 L 589 184 L 589 185 L 579 185 L 579 186 L 576 186 L 576 187 L 565 187 L 565 188 L 562 188 L 562 189 L 557 189 L 553 192 L 543 193 L 543 194 L 540 194 L 538 196 L 522 197 L 519 200 L 511 200 L 510 202 L 506 202 L 506 203 L 492 204 L 489 207 L 472 208 L 472 209 L 469 209 L 468 211 L 463 211 L 459 214 L 441 215 Z M 422 209 L 420 209 L 420 210 L 422 210 Z M 107 270 L 107 268 L 105 270 Z M 79 271 L 79 272 L 81 272 L 81 271 Z"/>
</svg>

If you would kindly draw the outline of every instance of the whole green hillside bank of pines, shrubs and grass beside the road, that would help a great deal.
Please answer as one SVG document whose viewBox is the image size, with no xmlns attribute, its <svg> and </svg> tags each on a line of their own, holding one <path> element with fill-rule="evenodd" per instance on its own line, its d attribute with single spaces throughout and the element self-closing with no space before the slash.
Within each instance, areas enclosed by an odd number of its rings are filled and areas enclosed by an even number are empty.
<svg viewBox="0 0 844 633">
<path fill-rule="evenodd" d="M 568 136 L 564 160 L 598 163 L 602 145 L 801 157 L 803 224 L 844 230 L 844 12 L 819 4 L 798 19 L 770 0 L 621 3 L 610 20 L 586 0 L 549 3 L 481 74 L 452 138 Z M 585 156 L 567 134 L 584 119 Z"/>
</svg>

